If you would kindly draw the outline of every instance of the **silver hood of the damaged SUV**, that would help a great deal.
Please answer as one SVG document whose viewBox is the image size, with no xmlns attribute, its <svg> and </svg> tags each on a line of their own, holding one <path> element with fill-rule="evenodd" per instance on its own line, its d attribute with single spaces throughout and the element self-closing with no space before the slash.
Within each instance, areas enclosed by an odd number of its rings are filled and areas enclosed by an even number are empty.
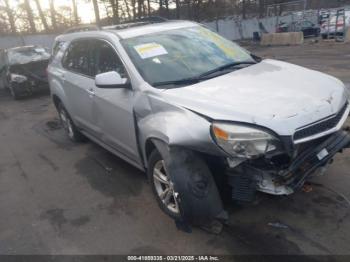
<svg viewBox="0 0 350 262">
<path fill-rule="evenodd" d="M 280 135 L 337 113 L 347 99 L 336 78 L 270 59 L 163 96 L 212 119 L 254 123 Z"/>
</svg>

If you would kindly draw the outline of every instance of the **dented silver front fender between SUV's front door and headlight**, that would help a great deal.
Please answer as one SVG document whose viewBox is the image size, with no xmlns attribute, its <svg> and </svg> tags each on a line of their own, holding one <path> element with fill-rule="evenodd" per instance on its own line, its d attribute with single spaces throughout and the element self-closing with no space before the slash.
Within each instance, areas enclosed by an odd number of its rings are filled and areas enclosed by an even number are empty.
<svg viewBox="0 0 350 262">
<path fill-rule="evenodd" d="M 146 144 L 150 139 L 162 140 L 171 147 L 179 146 L 207 154 L 224 155 L 211 137 L 211 123 L 186 108 L 163 101 L 155 95 L 140 94 L 135 100 L 134 112 L 146 167 Z"/>
</svg>

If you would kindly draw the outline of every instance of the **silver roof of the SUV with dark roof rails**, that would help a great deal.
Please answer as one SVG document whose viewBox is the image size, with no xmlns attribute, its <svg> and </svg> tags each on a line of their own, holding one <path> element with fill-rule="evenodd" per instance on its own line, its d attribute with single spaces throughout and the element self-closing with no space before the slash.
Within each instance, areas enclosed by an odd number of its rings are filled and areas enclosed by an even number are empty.
<svg viewBox="0 0 350 262">
<path fill-rule="evenodd" d="M 115 29 L 116 26 L 106 26 L 101 29 L 89 30 L 89 31 L 79 31 L 79 32 L 69 32 L 68 34 L 60 35 L 56 40 L 60 41 L 70 41 L 75 39 L 77 36 L 80 37 L 94 37 L 97 35 L 106 35 L 113 33 L 117 35 L 120 39 L 126 39 L 131 37 L 137 37 L 140 35 L 152 34 L 167 30 L 180 29 L 186 27 L 192 27 L 198 25 L 195 22 L 173 20 L 162 23 L 151 23 L 143 24 L 140 23 L 138 26 L 126 27 L 123 29 Z M 120 27 L 119 27 L 120 28 Z"/>
</svg>

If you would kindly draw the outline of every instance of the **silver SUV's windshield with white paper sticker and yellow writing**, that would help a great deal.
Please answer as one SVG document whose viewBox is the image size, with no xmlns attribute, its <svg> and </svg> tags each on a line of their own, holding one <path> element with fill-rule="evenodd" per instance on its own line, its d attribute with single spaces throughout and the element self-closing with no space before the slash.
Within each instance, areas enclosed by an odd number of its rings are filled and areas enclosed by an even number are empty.
<svg viewBox="0 0 350 262">
<path fill-rule="evenodd" d="M 246 50 L 201 26 L 121 42 L 150 85 L 194 78 L 232 63 L 254 62 Z"/>
</svg>

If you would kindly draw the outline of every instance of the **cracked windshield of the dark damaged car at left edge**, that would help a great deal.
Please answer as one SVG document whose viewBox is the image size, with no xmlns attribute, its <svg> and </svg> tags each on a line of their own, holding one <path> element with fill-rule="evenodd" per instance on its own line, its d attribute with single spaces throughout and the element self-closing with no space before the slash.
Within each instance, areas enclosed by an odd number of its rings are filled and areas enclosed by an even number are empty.
<svg viewBox="0 0 350 262">
<path fill-rule="evenodd" d="M 49 58 L 50 54 L 42 47 L 24 47 L 8 50 L 8 59 L 11 65 L 27 64 Z"/>
</svg>

